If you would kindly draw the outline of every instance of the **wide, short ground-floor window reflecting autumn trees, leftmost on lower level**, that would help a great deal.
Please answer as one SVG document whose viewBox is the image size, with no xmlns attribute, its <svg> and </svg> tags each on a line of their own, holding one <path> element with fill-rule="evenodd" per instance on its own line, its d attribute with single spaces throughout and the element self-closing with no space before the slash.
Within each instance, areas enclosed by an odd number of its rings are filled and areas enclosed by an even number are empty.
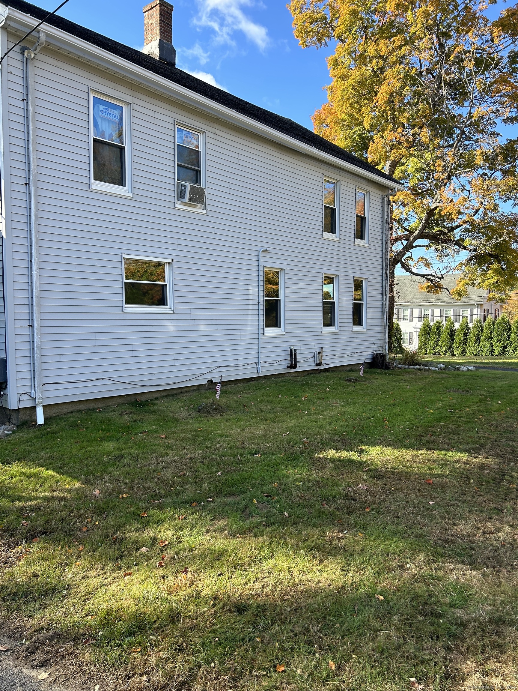
<svg viewBox="0 0 518 691">
<path fill-rule="evenodd" d="M 124 309 L 171 310 L 171 262 L 162 259 L 123 257 Z"/>
</svg>

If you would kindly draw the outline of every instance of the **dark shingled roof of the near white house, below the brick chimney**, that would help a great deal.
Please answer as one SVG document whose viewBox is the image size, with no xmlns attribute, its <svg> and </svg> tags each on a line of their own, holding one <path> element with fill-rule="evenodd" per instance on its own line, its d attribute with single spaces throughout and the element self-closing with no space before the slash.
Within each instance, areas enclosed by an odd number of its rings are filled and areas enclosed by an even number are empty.
<svg viewBox="0 0 518 691">
<path fill-rule="evenodd" d="M 35 17 L 35 19 L 38 19 L 39 21 L 48 15 L 47 10 L 42 10 L 35 5 L 23 2 L 23 0 L 3 0 L 3 2 L 15 10 L 19 10 L 20 12 L 24 12 L 26 15 Z M 211 86 L 211 84 L 207 84 L 207 82 L 202 82 L 201 79 L 197 79 L 183 70 L 179 70 L 178 68 L 173 67 L 165 62 L 161 62 L 154 57 L 145 55 L 140 50 L 130 48 L 129 46 L 124 46 L 124 44 L 121 44 L 118 41 L 108 39 L 106 36 L 102 36 L 95 31 L 90 31 L 89 29 L 84 28 L 84 26 L 79 26 L 79 24 L 75 24 L 73 21 L 68 21 L 68 19 L 63 19 L 63 17 L 58 17 L 57 15 L 52 15 L 52 17 L 50 17 L 46 23 L 55 26 L 62 31 L 66 31 L 68 34 L 76 36 L 83 41 L 88 41 L 88 43 L 92 44 L 93 46 L 103 48 L 104 50 L 107 50 L 108 53 L 113 53 L 113 55 L 117 55 L 118 57 L 122 57 L 125 60 L 133 62 L 133 64 L 149 70 L 150 72 L 155 73 L 155 75 L 164 77 L 164 79 L 169 79 L 170 82 L 180 84 L 180 86 L 184 86 L 184 88 L 189 89 L 189 91 L 194 91 L 195 93 L 211 99 L 215 103 L 226 106 L 227 108 L 231 108 L 231 110 L 236 111 L 241 115 L 246 115 L 252 120 L 256 120 L 257 122 L 267 125 L 268 127 L 271 127 L 271 129 L 281 132 L 282 134 L 296 139 L 299 142 L 303 142 L 303 144 L 313 146 L 314 149 L 318 149 L 318 151 L 332 155 L 334 158 L 343 160 L 356 166 L 357 168 L 368 171 L 369 173 L 374 173 L 376 176 L 381 178 L 380 182 L 383 181 L 388 183 L 389 187 L 394 182 L 398 182 L 391 176 L 383 173 L 383 171 L 380 171 L 376 167 L 372 166 L 370 163 L 361 160 L 361 158 L 357 158 L 352 153 L 345 151 L 345 149 L 340 149 L 340 146 L 336 146 L 336 144 L 328 142 L 323 137 L 320 137 L 306 127 L 298 124 L 298 122 L 294 122 L 294 120 L 289 120 L 287 117 L 282 117 L 281 115 L 276 115 L 275 113 L 266 111 L 265 108 L 254 106 L 253 104 L 244 101 L 237 96 L 227 93 L 227 91 L 223 91 L 216 86 Z"/>
</svg>

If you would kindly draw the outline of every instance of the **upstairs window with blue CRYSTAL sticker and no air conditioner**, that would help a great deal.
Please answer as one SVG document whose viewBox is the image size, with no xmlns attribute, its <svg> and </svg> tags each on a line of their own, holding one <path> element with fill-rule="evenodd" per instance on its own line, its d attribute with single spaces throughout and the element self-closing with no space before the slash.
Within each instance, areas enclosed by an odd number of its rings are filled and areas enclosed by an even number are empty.
<svg viewBox="0 0 518 691">
<path fill-rule="evenodd" d="M 127 106 L 92 94 L 92 186 L 128 192 Z"/>
</svg>

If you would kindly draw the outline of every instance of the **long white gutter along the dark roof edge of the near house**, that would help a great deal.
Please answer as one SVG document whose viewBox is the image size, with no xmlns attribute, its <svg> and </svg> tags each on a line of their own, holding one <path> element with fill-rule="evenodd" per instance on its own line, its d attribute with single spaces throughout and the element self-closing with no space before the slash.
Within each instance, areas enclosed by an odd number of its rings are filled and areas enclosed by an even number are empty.
<svg viewBox="0 0 518 691">
<path fill-rule="evenodd" d="M 15 32 L 27 32 L 32 26 L 36 26 L 37 19 L 25 15 L 19 10 L 7 7 L 3 14 L 3 21 L 0 22 L 0 26 L 8 26 L 11 30 Z M 405 187 L 403 184 L 398 182 L 392 182 L 390 180 L 384 180 L 376 173 L 371 173 L 370 171 L 365 171 L 360 167 L 357 167 L 353 163 L 343 161 L 340 158 L 335 158 L 329 153 L 319 151 L 315 149 L 314 146 L 309 146 L 309 144 L 304 144 L 298 140 L 278 132 L 276 129 L 268 127 L 257 120 L 253 120 L 247 115 L 241 115 L 237 111 L 233 111 L 232 108 L 227 106 L 222 106 L 214 102 L 213 100 L 202 96 L 194 91 L 190 91 L 180 84 L 175 84 L 169 79 L 155 75 L 154 73 L 146 70 L 143 67 L 135 65 L 129 60 L 125 60 L 122 57 L 118 57 L 113 53 L 110 53 L 104 48 L 98 48 L 93 46 L 93 44 L 84 41 L 84 39 L 79 39 L 71 34 L 68 34 L 55 26 L 50 26 L 50 24 L 44 23 L 41 28 L 46 32 L 46 44 L 55 48 L 56 50 L 64 51 L 69 55 L 74 55 L 78 59 L 84 60 L 88 63 L 94 63 L 96 66 L 104 68 L 115 75 L 123 75 L 124 77 L 130 79 L 132 82 L 137 82 L 137 84 L 144 85 L 150 88 L 152 91 L 161 93 L 176 101 L 180 101 L 183 104 L 196 108 L 203 113 L 210 113 L 213 117 L 217 117 L 218 120 L 224 120 L 224 122 L 229 122 L 233 125 L 252 132 L 260 137 L 264 137 L 270 141 L 282 144 L 282 146 L 287 146 L 289 149 L 294 151 L 299 151 L 304 155 L 311 156 L 311 158 L 316 158 L 329 165 L 336 168 L 343 169 L 349 173 L 354 173 L 356 176 L 371 180 L 376 182 L 382 187 L 393 187 L 394 189 L 399 189 L 403 191 Z"/>
</svg>

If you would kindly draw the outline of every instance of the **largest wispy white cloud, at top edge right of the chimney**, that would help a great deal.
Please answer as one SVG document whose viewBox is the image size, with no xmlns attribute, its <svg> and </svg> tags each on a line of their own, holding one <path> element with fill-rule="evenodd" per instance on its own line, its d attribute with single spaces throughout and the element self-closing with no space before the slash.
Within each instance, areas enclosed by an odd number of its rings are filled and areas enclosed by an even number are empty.
<svg viewBox="0 0 518 691">
<path fill-rule="evenodd" d="M 260 50 L 269 44 L 267 29 L 249 19 L 242 7 L 250 7 L 251 0 L 198 0 L 200 16 L 195 19 L 199 26 L 209 26 L 222 43 L 233 44 L 233 32 L 242 31 Z"/>
</svg>

